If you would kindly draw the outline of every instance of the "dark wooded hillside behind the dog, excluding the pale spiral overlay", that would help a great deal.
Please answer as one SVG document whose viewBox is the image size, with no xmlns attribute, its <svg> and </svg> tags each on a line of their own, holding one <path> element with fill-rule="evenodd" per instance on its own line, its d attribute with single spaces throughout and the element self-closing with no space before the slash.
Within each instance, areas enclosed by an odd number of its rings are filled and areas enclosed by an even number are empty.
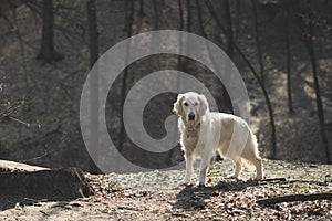
<svg viewBox="0 0 332 221">
<path fill-rule="evenodd" d="M 231 57 L 249 92 L 263 157 L 331 164 L 331 0 L 3 0 L 0 158 L 97 171 L 80 129 L 89 70 L 117 42 L 164 29 L 199 34 Z M 231 112 L 220 83 L 193 61 L 169 54 L 137 61 L 108 94 L 107 127 L 123 151 L 131 151 L 120 120 L 125 93 L 147 73 L 165 69 L 205 82 L 219 108 Z M 151 101 L 146 129 L 153 136 L 163 136 L 154 135 L 163 131 L 158 116 L 170 114 L 175 96 Z M 175 149 L 165 161 L 180 159 Z"/>
</svg>

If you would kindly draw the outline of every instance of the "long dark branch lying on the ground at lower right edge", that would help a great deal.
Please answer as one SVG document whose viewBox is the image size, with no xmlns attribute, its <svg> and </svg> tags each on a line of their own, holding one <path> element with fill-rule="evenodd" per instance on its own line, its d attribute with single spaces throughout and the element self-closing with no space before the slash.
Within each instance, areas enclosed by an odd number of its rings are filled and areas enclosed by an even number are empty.
<svg viewBox="0 0 332 221">
<path fill-rule="evenodd" d="M 269 199 L 257 200 L 258 204 L 270 206 L 280 202 L 293 202 L 293 201 L 313 201 L 313 200 L 330 200 L 332 201 L 332 193 L 323 192 L 315 194 L 289 194 L 283 197 L 274 197 Z"/>
</svg>

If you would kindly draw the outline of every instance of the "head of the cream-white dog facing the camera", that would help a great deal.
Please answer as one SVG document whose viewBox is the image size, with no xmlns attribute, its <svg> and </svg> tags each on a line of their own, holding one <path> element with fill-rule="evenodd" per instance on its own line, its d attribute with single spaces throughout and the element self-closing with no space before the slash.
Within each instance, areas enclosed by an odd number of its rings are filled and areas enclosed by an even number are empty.
<svg viewBox="0 0 332 221">
<path fill-rule="evenodd" d="M 173 107 L 173 112 L 187 123 L 200 120 L 208 110 L 209 104 L 206 97 L 195 92 L 179 94 Z"/>
</svg>

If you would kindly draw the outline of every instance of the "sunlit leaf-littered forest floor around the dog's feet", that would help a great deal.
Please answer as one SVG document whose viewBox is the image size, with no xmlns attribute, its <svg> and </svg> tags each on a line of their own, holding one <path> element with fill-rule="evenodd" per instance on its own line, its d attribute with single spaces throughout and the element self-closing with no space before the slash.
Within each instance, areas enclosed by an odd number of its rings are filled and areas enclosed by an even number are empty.
<svg viewBox="0 0 332 221">
<path fill-rule="evenodd" d="M 331 165 L 264 160 L 264 180 L 253 169 L 225 179 L 232 166 L 216 162 L 205 188 L 178 186 L 184 170 L 90 175 L 94 196 L 49 201 L 25 198 L 0 208 L 0 220 L 331 220 L 332 199 L 259 204 L 267 198 L 332 193 Z M 245 181 L 246 180 L 246 181 Z M 9 192 L 10 194 L 10 192 Z"/>
</svg>

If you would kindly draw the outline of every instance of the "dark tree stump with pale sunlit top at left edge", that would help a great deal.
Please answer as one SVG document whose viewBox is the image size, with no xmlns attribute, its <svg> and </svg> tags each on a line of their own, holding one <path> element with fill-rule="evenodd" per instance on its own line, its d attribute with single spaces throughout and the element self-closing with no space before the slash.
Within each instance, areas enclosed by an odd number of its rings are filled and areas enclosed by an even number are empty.
<svg viewBox="0 0 332 221">
<path fill-rule="evenodd" d="M 66 200 L 93 194 L 79 168 L 50 169 L 0 160 L 0 199 Z"/>
</svg>

